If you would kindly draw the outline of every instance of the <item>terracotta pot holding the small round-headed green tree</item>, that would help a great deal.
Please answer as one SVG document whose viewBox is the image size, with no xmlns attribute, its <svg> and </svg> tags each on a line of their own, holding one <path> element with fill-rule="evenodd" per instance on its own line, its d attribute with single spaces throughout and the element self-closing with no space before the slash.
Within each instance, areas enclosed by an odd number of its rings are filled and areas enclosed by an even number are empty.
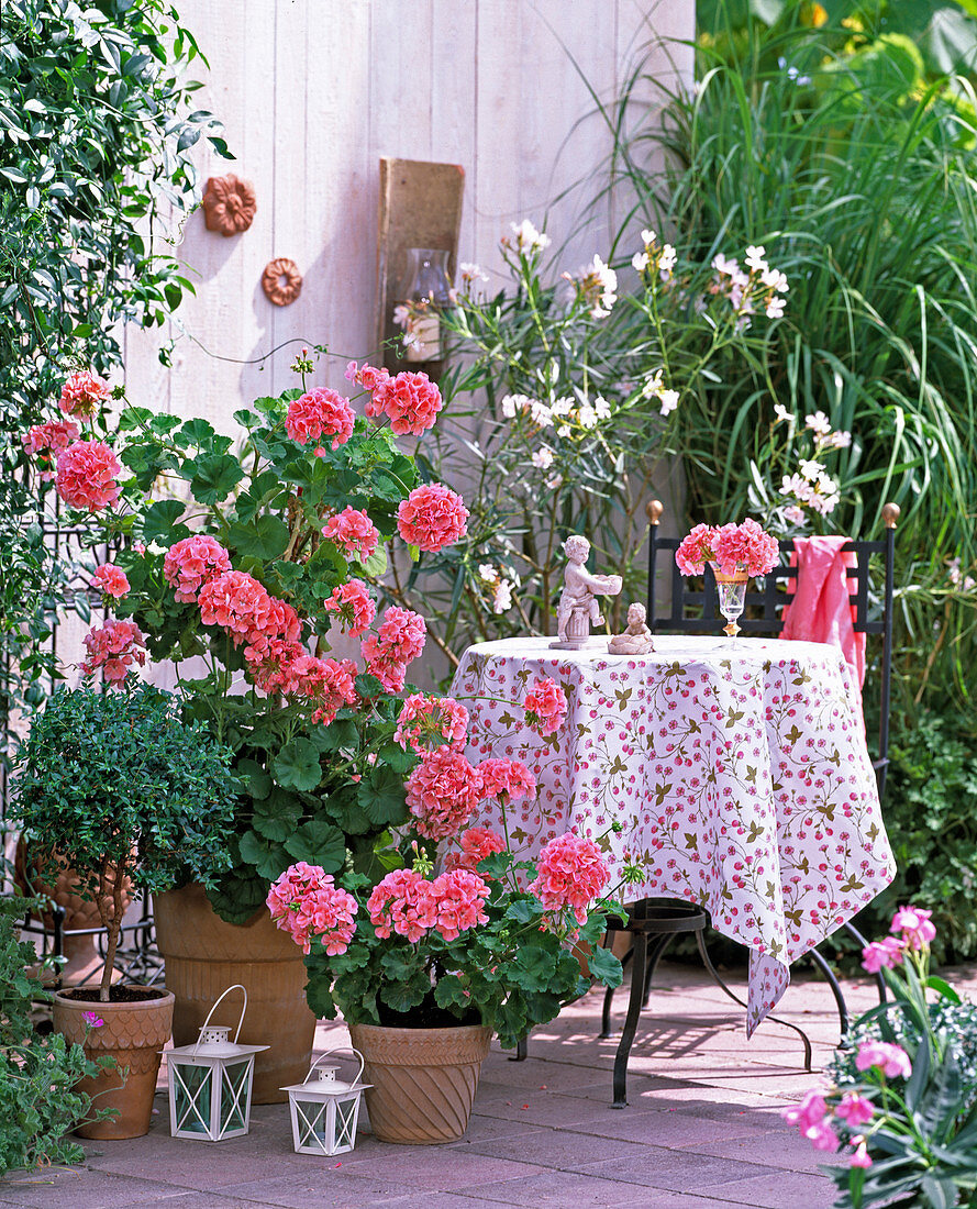
<svg viewBox="0 0 977 1209">
<path fill-rule="evenodd" d="M 149 1133 L 161 1051 L 173 1025 L 173 995 L 152 987 L 114 987 L 111 993 L 138 997 L 99 1003 L 87 988 L 54 995 L 54 1031 L 83 1046 L 89 1058 L 110 1057 L 118 1064 L 116 1070 L 102 1071 L 76 1084 L 77 1091 L 92 1097 L 94 1109 L 117 1109 L 118 1116 L 82 1123 L 75 1133 L 104 1140 L 141 1138 Z M 91 1028 L 86 1012 L 93 1012 L 104 1023 Z"/>
</svg>

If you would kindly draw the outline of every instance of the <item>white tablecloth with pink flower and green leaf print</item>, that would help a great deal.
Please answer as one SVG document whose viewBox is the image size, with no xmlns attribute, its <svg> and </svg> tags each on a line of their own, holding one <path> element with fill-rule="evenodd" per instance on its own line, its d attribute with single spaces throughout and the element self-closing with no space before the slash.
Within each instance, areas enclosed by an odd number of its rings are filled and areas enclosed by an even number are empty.
<svg viewBox="0 0 977 1209">
<path fill-rule="evenodd" d="M 547 638 L 470 647 L 452 695 L 468 707 L 468 757 L 522 759 L 534 802 L 508 809 L 536 855 L 576 827 L 599 840 L 628 901 L 675 896 L 750 948 L 747 1034 L 790 983 L 790 962 L 895 874 L 861 717 L 840 650 L 815 642 L 655 636 L 648 655 L 576 652 Z M 539 737 L 520 702 L 562 686 L 562 727 Z M 499 829 L 486 804 L 478 822 Z M 623 825 L 618 833 L 608 828 Z M 605 834 L 607 833 L 607 834 Z M 605 837 L 600 839 L 600 837 Z"/>
</svg>

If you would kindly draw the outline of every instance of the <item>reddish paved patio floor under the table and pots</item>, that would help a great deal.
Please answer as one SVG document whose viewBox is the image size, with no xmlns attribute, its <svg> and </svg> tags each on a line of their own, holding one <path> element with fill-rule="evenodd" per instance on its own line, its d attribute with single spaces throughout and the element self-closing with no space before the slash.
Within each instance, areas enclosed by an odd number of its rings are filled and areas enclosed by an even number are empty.
<svg viewBox="0 0 977 1209">
<path fill-rule="evenodd" d="M 962 974 L 962 977 L 961 977 Z M 977 990 L 977 971 L 956 971 Z M 733 976 L 745 994 L 745 972 Z M 595 1040 L 591 991 L 533 1034 L 530 1058 L 493 1047 L 466 1138 L 449 1146 L 391 1146 L 360 1134 L 354 1151 L 316 1158 L 291 1151 L 285 1105 L 256 1107 L 247 1138 L 220 1144 L 168 1135 L 164 1094 L 146 1138 L 86 1143 L 87 1161 L 0 1181 L 0 1205 L 24 1209 L 474 1209 L 475 1205 L 705 1209 L 826 1209 L 832 1184 L 815 1152 L 779 1110 L 820 1082 L 804 1072 L 790 1030 L 764 1024 L 747 1041 L 742 1012 L 701 968 L 663 965 L 660 989 L 631 1055 L 628 1109 L 611 1109 L 617 1040 Z M 846 987 L 850 1008 L 875 1000 L 867 982 Z M 618 993 L 615 1020 L 625 995 Z M 837 1042 L 827 987 L 800 976 L 785 1018 L 805 1028 L 815 1068 Z M 342 1025 L 318 1043 L 341 1045 Z"/>
</svg>

